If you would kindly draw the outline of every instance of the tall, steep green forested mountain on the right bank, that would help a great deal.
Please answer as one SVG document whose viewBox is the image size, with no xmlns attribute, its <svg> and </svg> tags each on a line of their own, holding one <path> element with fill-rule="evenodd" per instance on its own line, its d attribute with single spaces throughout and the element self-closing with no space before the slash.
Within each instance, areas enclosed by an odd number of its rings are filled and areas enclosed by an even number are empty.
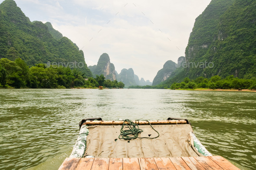
<svg viewBox="0 0 256 170">
<path fill-rule="evenodd" d="M 214 67 L 180 67 L 164 83 L 214 75 L 256 77 L 256 10 L 254 0 L 212 0 L 197 17 L 185 51 L 186 62 Z"/>
</svg>

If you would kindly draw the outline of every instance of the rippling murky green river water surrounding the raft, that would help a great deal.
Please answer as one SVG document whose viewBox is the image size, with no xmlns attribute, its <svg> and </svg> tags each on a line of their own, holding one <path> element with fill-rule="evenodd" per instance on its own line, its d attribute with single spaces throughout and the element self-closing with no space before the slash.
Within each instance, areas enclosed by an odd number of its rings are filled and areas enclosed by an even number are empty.
<svg viewBox="0 0 256 170">
<path fill-rule="evenodd" d="M 186 118 L 213 155 L 256 169 L 256 93 L 137 89 L 0 89 L 0 169 L 57 170 L 87 117 Z"/>
</svg>

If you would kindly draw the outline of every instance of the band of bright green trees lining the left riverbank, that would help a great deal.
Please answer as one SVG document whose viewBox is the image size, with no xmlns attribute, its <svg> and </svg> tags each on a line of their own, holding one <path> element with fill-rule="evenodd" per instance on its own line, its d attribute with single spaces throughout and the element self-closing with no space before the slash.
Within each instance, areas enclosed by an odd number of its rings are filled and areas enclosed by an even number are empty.
<svg viewBox="0 0 256 170">
<path fill-rule="evenodd" d="M 124 83 L 117 80 L 105 80 L 103 75 L 96 75 L 96 79 L 86 79 L 85 73 L 69 67 L 56 67 L 46 64 L 27 66 L 25 61 L 17 58 L 11 61 L 0 59 L 0 87 L 3 88 L 98 88 L 98 86 L 123 88 Z"/>
</svg>

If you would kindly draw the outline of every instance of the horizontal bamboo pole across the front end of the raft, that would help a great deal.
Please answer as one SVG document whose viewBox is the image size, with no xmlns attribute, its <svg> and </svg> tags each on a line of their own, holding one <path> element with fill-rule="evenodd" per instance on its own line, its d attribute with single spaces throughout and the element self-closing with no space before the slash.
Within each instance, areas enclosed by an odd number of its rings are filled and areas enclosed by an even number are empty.
<svg viewBox="0 0 256 170">
<path fill-rule="evenodd" d="M 138 125 L 149 125 L 147 121 L 132 121 L 137 123 Z M 186 124 L 185 120 L 157 120 L 157 121 L 149 121 L 151 125 L 174 125 L 174 124 Z M 86 125 L 122 125 L 124 121 L 94 121 L 94 120 L 87 120 L 85 122 Z M 126 122 L 128 123 L 128 122 Z"/>
</svg>

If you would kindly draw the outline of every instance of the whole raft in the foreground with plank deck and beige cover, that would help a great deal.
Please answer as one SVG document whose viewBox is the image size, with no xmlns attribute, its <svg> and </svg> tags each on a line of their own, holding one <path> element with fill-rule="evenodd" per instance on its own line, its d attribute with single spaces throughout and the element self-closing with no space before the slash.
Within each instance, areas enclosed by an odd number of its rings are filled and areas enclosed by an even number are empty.
<svg viewBox="0 0 256 170">
<path fill-rule="evenodd" d="M 239 170 L 225 158 L 212 156 L 187 119 L 89 118 L 79 127 L 73 151 L 59 170 Z"/>
</svg>

